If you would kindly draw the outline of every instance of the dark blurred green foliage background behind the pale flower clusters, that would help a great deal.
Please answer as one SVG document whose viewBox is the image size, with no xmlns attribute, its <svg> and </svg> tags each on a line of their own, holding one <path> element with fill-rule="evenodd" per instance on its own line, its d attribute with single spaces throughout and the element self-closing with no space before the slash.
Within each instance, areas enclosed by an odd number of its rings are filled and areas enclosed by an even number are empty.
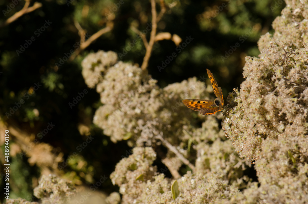
<svg viewBox="0 0 308 204">
<path fill-rule="evenodd" d="M 107 194 L 118 191 L 109 175 L 131 148 L 125 141 L 112 143 L 101 129 L 92 124 L 94 112 L 100 105 L 99 94 L 84 83 L 80 64 L 88 53 L 98 50 L 122 53 L 130 43 L 136 42 L 121 60 L 141 66 L 146 50 L 130 25 L 136 25 L 140 31 L 146 29 L 151 23 L 151 4 L 149 1 L 123 0 L 124 3 L 118 8 L 116 6 L 120 1 L 117 0 L 38 2 L 42 3 L 40 8 L 6 25 L 5 21 L 20 11 L 25 1 L 0 0 L 1 126 L 2 129 L 20 129 L 19 136 L 10 133 L 10 198 L 35 200 L 33 188 L 41 173 L 47 171 L 86 186 L 93 185 L 105 175 L 108 179 L 98 189 Z M 183 40 L 182 43 L 187 37 L 193 40 L 180 53 L 171 40 L 155 43 L 148 63 L 149 74 L 164 87 L 193 76 L 203 81 L 208 78 L 208 68 L 225 97 L 233 88 L 240 87 L 245 56 L 259 54 L 258 39 L 266 32 L 273 32 L 271 23 L 285 6 L 284 2 L 272 0 L 166 0 L 164 3 L 167 10 L 157 25 L 157 33 L 176 34 Z M 34 1 L 31 1 L 30 6 L 33 5 Z M 157 1 L 158 12 L 159 5 Z M 113 8 L 116 9 L 111 12 Z M 56 66 L 70 50 L 78 51 L 80 36 L 76 25 L 79 24 L 91 36 L 106 27 L 108 22 L 114 24 L 110 32 L 91 43 L 73 61 L 67 60 L 63 65 Z M 35 40 L 29 41 L 31 38 Z M 18 52 L 27 42 L 28 47 L 22 53 Z M 177 54 L 175 59 L 159 70 L 158 66 L 173 52 Z M 33 92 L 35 83 L 41 86 Z M 71 108 L 69 103 L 84 89 L 88 93 Z M 10 108 L 22 99 L 25 103 L 7 117 Z M 40 138 L 38 133 L 46 129 L 48 123 L 55 126 Z M 1 134 L 4 132 L 2 129 Z M 32 140 L 36 138 L 40 143 L 51 145 L 51 152 L 63 160 L 74 152 L 78 156 L 70 160 L 64 169 L 33 164 L 23 150 L 21 133 Z M 91 133 L 95 142 L 84 146 L 79 153 L 76 147 L 86 141 L 87 133 Z M 0 141 L 1 169 L 4 169 L 4 141 Z M 2 171 L 1 194 L 4 192 L 3 176 Z"/>
</svg>

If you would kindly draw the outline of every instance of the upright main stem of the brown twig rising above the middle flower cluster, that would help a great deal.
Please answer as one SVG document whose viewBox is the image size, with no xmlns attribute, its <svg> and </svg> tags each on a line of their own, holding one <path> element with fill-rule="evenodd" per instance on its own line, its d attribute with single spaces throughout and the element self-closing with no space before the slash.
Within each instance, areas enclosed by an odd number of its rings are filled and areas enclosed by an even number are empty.
<svg viewBox="0 0 308 204">
<path fill-rule="evenodd" d="M 146 70 L 146 68 L 148 67 L 148 62 L 149 62 L 152 48 L 155 42 L 155 35 L 156 35 L 156 28 L 157 28 L 155 0 L 151 0 L 151 6 L 152 6 L 152 31 L 150 35 L 150 41 L 149 41 L 148 46 L 146 47 L 145 56 L 143 58 L 143 62 L 141 65 L 142 70 Z"/>
</svg>

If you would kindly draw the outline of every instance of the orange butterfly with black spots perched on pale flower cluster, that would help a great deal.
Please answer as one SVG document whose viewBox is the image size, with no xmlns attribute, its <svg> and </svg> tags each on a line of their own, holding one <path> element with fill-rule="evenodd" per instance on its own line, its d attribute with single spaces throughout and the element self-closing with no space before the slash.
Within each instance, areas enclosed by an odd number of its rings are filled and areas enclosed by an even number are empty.
<svg viewBox="0 0 308 204">
<path fill-rule="evenodd" d="M 194 111 L 201 111 L 202 115 L 210 115 L 214 114 L 218 111 L 223 110 L 222 106 L 224 105 L 224 98 L 222 97 L 222 90 L 217 85 L 217 81 L 215 80 L 212 72 L 206 69 L 208 72 L 209 79 L 211 81 L 214 94 L 217 97 L 214 101 L 213 100 L 200 100 L 200 99 L 185 99 L 182 100 L 185 106 Z M 222 114 L 224 114 L 222 112 Z"/>
</svg>

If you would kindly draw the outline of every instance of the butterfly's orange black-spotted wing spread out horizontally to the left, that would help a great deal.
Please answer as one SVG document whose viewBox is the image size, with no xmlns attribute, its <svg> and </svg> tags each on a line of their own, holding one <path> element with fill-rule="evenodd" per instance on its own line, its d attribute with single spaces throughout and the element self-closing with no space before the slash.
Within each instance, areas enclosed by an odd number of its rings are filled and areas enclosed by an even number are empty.
<svg viewBox="0 0 308 204">
<path fill-rule="evenodd" d="M 221 109 L 212 100 L 185 99 L 183 103 L 194 111 L 201 111 L 202 115 L 214 114 Z"/>
</svg>

